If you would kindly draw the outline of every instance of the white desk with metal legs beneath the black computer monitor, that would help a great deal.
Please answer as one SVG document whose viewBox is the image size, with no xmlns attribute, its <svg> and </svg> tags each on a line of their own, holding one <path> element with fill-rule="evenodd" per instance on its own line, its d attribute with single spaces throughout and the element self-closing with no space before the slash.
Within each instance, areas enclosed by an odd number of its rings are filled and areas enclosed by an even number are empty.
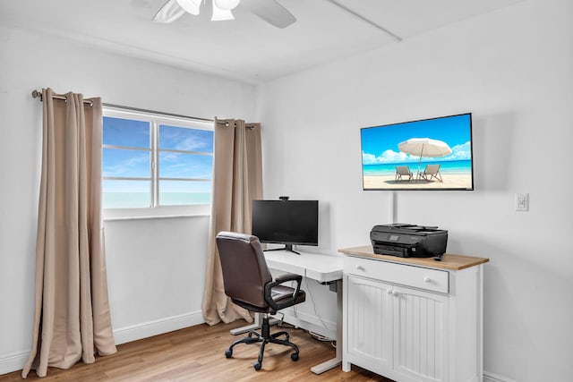
<svg viewBox="0 0 573 382">
<path fill-rule="evenodd" d="M 300 255 L 286 250 L 271 250 L 265 252 L 267 266 L 281 272 L 294 273 L 317 280 L 320 283 L 333 283 L 337 292 L 337 350 L 336 357 L 312 367 L 312 372 L 322 372 L 336 368 L 342 363 L 342 268 L 344 257 L 340 255 L 324 255 L 300 251 Z M 259 327 L 259 316 L 255 315 L 255 324 L 249 327 L 235 329 L 232 333 L 243 333 L 251 328 Z M 304 328 L 304 326 L 301 325 Z"/>
</svg>

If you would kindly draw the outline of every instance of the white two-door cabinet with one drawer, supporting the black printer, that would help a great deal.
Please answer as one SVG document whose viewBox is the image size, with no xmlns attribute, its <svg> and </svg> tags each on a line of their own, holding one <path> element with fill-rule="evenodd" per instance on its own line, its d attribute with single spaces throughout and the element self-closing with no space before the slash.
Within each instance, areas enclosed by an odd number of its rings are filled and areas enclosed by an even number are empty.
<svg viewBox="0 0 573 382">
<path fill-rule="evenodd" d="M 398 382 L 481 381 L 482 266 L 399 261 L 346 256 L 343 369 Z"/>
</svg>

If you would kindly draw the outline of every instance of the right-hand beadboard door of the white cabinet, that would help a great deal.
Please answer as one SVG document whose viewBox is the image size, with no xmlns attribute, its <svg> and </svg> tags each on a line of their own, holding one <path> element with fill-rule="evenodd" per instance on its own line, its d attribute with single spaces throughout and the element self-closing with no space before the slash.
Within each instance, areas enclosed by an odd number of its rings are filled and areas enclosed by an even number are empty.
<svg viewBox="0 0 573 382">
<path fill-rule="evenodd" d="M 394 286 L 394 363 L 412 380 L 448 381 L 448 296 Z"/>
</svg>

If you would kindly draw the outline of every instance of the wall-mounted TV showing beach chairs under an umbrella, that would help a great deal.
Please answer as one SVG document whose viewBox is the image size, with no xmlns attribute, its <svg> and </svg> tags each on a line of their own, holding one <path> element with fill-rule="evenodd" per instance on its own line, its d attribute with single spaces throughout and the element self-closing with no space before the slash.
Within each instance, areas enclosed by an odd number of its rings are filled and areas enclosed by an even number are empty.
<svg viewBox="0 0 573 382">
<path fill-rule="evenodd" d="M 474 190 L 472 115 L 360 130 L 363 190 Z"/>
</svg>

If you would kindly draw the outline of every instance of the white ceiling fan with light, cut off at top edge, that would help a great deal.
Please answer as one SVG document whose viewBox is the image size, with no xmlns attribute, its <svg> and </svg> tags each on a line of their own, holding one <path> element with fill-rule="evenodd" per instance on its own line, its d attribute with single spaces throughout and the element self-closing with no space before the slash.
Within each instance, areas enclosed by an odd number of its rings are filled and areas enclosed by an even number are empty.
<svg viewBox="0 0 573 382">
<path fill-rule="evenodd" d="M 173 22 L 185 13 L 198 15 L 203 0 L 167 0 L 153 17 L 155 22 Z M 276 0 L 213 0 L 211 21 L 233 20 L 232 10 L 242 6 L 277 28 L 286 28 L 296 21 Z"/>
</svg>

